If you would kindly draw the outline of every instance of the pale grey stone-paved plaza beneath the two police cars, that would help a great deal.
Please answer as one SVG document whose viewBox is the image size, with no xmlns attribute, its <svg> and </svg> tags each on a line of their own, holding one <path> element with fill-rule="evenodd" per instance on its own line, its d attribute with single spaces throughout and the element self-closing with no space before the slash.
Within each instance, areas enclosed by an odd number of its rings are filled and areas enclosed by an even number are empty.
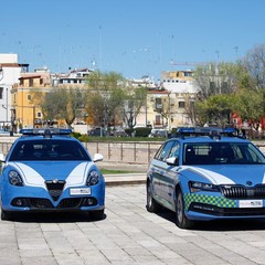
<svg viewBox="0 0 265 265">
<path fill-rule="evenodd" d="M 146 211 L 145 184 L 107 187 L 106 219 L 30 214 L 0 222 L 1 265 L 265 264 L 265 222 L 178 229 Z"/>
</svg>

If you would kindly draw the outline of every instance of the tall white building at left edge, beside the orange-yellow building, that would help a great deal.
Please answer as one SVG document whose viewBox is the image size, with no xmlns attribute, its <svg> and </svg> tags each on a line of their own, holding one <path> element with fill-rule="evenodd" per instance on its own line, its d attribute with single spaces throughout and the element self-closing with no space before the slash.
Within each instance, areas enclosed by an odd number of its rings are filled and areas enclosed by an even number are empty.
<svg viewBox="0 0 265 265">
<path fill-rule="evenodd" d="M 20 74 L 29 71 L 29 64 L 19 64 L 18 54 L 0 54 L 0 128 L 11 125 L 11 88 L 19 83 Z"/>
</svg>

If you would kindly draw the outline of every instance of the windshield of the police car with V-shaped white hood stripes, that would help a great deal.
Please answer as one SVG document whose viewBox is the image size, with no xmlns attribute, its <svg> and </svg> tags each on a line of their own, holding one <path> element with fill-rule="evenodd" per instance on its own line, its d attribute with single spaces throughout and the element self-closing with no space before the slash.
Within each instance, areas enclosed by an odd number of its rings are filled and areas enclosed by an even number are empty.
<svg viewBox="0 0 265 265">
<path fill-rule="evenodd" d="M 70 140 L 21 140 L 10 156 L 10 161 L 44 161 L 44 160 L 85 160 L 89 156 L 77 141 Z"/>
</svg>

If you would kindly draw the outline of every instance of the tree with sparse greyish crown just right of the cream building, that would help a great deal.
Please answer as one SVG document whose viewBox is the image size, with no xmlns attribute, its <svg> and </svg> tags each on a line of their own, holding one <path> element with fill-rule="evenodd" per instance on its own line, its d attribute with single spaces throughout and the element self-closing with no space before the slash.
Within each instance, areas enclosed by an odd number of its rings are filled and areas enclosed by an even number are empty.
<svg viewBox="0 0 265 265">
<path fill-rule="evenodd" d="M 251 74 L 241 61 L 199 66 L 194 83 L 199 92 L 195 102 L 198 123 L 216 123 L 220 126 L 230 121 L 232 112 L 239 112 L 240 115 L 242 102 L 237 100 L 235 107 L 236 95 L 253 85 Z"/>
</svg>

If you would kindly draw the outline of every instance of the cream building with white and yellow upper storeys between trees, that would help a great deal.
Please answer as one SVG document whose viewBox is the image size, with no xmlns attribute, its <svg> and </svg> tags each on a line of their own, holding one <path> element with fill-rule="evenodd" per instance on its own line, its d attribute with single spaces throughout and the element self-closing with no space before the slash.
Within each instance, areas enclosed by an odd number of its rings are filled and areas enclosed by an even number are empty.
<svg viewBox="0 0 265 265">
<path fill-rule="evenodd" d="M 160 87 L 148 89 L 147 104 L 137 117 L 137 126 L 169 130 L 192 126 L 197 95 L 192 75 L 189 70 L 162 72 Z"/>
</svg>

